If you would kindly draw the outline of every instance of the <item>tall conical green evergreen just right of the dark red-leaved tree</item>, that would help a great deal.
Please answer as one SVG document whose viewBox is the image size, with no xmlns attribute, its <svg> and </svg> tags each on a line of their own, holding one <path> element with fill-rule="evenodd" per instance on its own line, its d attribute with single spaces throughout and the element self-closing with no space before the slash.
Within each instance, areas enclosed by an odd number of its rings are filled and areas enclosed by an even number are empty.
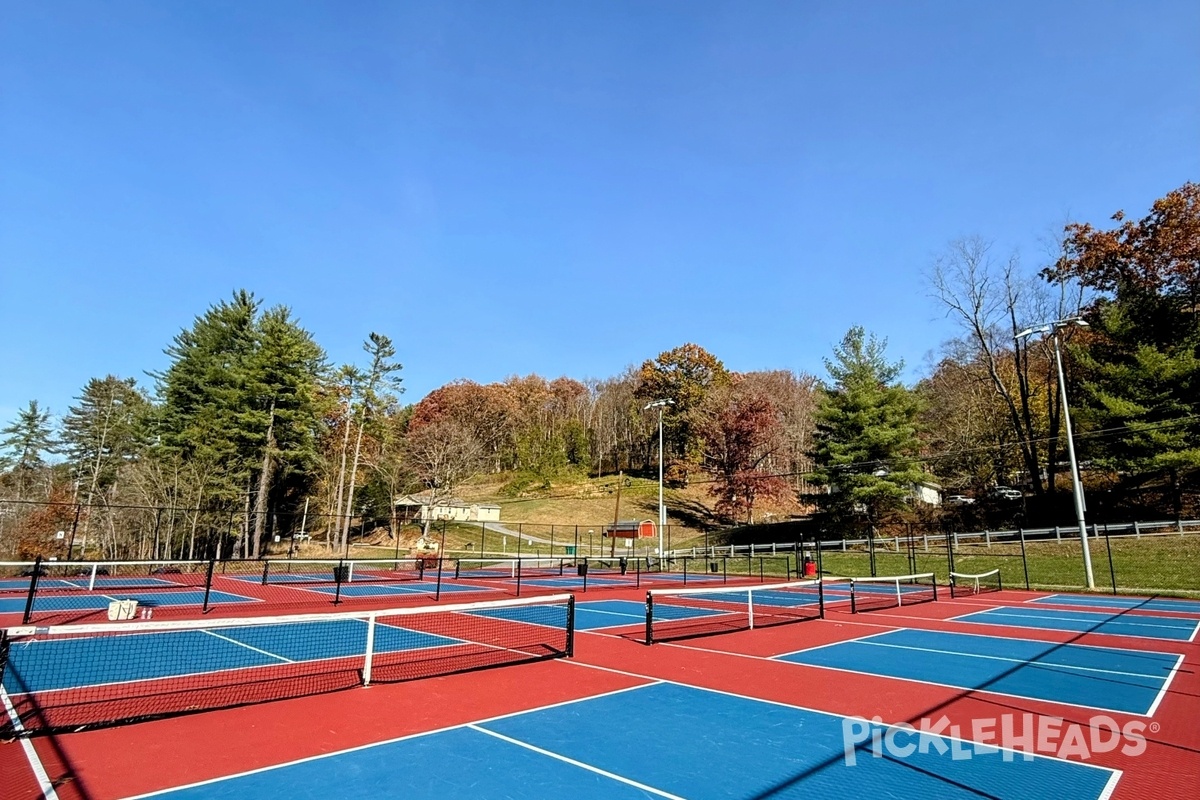
<svg viewBox="0 0 1200 800">
<path fill-rule="evenodd" d="M 830 487 L 827 511 L 839 519 L 865 515 L 874 524 L 906 506 L 925 477 L 916 461 L 920 403 L 886 348 L 852 327 L 824 362 L 830 384 L 816 413 L 814 482 Z"/>
</svg>

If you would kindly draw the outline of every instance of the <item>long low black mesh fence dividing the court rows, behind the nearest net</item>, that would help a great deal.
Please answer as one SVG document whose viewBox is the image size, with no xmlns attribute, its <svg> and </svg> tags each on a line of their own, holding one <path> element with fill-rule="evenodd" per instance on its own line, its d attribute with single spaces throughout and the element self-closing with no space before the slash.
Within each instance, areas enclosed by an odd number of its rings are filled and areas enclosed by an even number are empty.
<svg viewBox="0 0 1200 800">
<path fill-rule="evenodd" d="M 396 606 L 596 588 L 787 581 L 778 555 L 642 558 L 250 559 L 0 563 L 0 614 L 23 625 L 104 619 L 282 614 L 322 606 Z"/>
</svg>

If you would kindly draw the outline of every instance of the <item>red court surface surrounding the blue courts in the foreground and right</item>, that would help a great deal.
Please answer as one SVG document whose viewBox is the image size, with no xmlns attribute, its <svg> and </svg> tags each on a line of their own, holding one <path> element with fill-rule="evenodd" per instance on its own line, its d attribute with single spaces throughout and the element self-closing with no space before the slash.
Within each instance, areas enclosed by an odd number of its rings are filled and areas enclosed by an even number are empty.
<svg viewBox="0 0 1200 800">
<path fill-rule="evenodd" d="M 948 593 L 947 593 L 948 594 Z M 577 597 L 644 600 L 644 588 Z M 1030 750 L 1121 770 L 1118 800 L 1200 796 L 1200 643 L 1069 631 L 1014 628 L 953 621 L 971 610 L 1024 603 L 1036 593 L 1003 591 L 851 615 L 830 608 L 823 620 L 739 631 L 647 646 L 640 626 L 576 634 L 575 657 L 532 664 L 373 685 L 79 733 L 38 735 L 0 744 L 0 796 L 42 796 L 29 748 L 59 798 L 108 800 L 168 789 L 300 758 L 343 751 L 408 734 L 438 730 L 514 711 L 538 709 L 652 681 L 731 692 L 884 723 L 922 720 L 956 726 L 972 739 L 979 720 L 1009 715 L 1058 733 Z M 456 597 L 457 600 L 457 597 Z M 1200 604 L 1200 603 L 1198 603 Z M 1200 619 L 1200 618 L 1198 618 Z M 869 634 L 916 630 L 985 634 L 1024 642 L 1091 645 L 1183 656 L 1150 716 L 1109 714 L 1118 726 L 1144 726 L 1144 752 L 1063 751 L 1064 732 L 1091 735 L 1096 711 L 1067 703 L 954 688 L 890 676 L 779 661 L 775 656 Z M 919 657 L 919 656 L 914 656 Z M 948 676 L 953 682 L 953 675 Z M 942 721 L 944 717 L 944 721 Z M 1043 720 L 1051 723 L 1049 728 Z M 612 724 L 620 726 L 620 720 Z M 636 736 L 636 730 L 629 735 Z M 678 760 L 686 769 L 689 732 L 680 732 Z M 1021 747 L 1024 748 L 1024 747 Z M 427 766 L 396 765 L 396 780 L 420 780 Z M 400 789 L 397 789 L 400 790 Z M 402 796 L 402 792 L 397 794 Z"/>
</svg>

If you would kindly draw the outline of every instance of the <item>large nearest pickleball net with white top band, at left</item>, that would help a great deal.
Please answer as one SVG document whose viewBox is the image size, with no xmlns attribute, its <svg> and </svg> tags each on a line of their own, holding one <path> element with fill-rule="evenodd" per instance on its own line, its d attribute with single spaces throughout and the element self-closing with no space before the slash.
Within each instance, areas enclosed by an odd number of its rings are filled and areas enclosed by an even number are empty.
<svg viewBox="0 0 1200 800">
<path fill-rule="evenodd" d="M 571 595 L 0 630 L 0 736 L 78 730 L 570 656 Z"/>
</svg>

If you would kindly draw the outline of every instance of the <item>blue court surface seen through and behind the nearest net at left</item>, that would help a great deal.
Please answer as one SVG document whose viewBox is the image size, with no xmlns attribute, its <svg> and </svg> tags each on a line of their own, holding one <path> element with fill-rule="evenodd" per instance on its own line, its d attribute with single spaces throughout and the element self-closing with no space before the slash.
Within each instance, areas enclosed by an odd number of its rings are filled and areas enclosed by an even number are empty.
<svg viewBox="0 0 1200 800">
<path fill-rule="evenodd" d="M 367 622 L 360 619 L 35 639 L 10 645 L 4 688 L 16 696 L 325 661 L 361 656 L 366 642 Z M 377 654 L 456 644 L 443 636 L 376 625 Z"/>
</svg>

